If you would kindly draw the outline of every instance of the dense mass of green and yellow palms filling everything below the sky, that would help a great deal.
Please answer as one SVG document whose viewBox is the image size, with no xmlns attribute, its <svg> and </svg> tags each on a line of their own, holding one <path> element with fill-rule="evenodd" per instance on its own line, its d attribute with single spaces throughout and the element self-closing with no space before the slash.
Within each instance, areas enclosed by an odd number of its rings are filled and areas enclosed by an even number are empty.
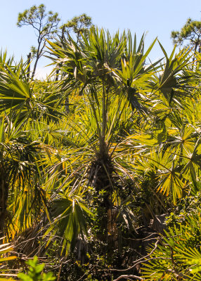
<svg viewBox="0 0 201 281">
<path fill-rule="evenodd" d="M 1 53 L 1 269 L 38 256 L 22 280 L 201 280 L 200 54 L 159 43 L 148 64 L 157 40 L 79 36 L 48 42 L 45 81 Z"/>
</svg>

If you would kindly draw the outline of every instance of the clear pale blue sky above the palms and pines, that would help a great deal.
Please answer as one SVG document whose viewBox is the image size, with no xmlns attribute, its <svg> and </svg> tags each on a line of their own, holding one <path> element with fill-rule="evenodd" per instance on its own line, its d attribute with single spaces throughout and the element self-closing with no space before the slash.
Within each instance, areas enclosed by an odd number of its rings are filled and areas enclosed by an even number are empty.
<svg viewBox="0 0 201 281">
<path fill-rule="evenodd" d="M 0 48 L 7 49 L 18 60 L 26 58 L 30 46 L 36 43 L 32 27 L 17 27 L 18 13 L 32 5 L 45 4 L 46 10 L 58 12 L 63 22 L 75 15 L 90 15 L 93 24 L 104 27 L 114 33 L 118 29 L 136 32 L 139 39 L 143 32 L 148 32 L 145 42 L 150 44 L 155 37 L 161 41 L 170 53 L 173 44 L 170 39 L 172 30 L 180 30 L 187 18 L 201 20 L 200 0 L 1 0 L 0 10 Z M 150 58 L 162 56 L 160 48 L 155 46 Z M 39 63 L 41 73 L 46 61 Z"/>
</svg>

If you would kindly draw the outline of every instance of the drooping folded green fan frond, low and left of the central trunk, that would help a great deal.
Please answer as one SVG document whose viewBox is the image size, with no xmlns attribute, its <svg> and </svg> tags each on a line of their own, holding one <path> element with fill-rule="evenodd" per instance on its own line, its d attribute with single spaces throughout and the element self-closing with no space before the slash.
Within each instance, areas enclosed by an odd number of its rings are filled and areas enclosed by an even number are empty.
<svg viewBox="0 0 201 281">
<path fill-rule="evenodd" d="M 48 228 L 44 235 L 51 233 L 48 244 L 51 243 L 51 237 L 60 235 L 63 237 L 63 244 L 61 254 L 65 249 L 65 253 L 73 251 L 76 246 L 77 238 L 84 239 L 84 235 L 87 235 L 87 230 L 92 222 L 93 214 L 87 208 L 86 203 L 82 200 L 82 197 L 77 195 L 69 196 L 65 192 L 65 195 L 60 195 L 57 200 L 53 202 L 53 217 L 54 220 L 51 226 Z M 81 195 L 82 196 L 82 195 Z"/>
</svg>

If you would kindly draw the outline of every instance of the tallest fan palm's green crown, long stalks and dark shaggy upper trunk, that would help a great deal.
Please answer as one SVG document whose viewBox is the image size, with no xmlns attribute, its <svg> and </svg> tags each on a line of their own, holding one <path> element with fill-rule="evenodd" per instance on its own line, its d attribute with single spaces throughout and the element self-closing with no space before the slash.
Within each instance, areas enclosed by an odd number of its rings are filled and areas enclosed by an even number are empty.
<svg viewBox="0 0 201 281">
<path fill-rule="evenodd" d="M 109 150 L 114 141 L 113 131 L 124 107 L 128 106 L 127 100 L 133 109 L 142 109 L 133 81 L 136 79 L 137 84 L 150 75 L 150 68 L 145 70 L 144 63 L 153 45 L 143 55 L 143 38 L 136 50 L 136 40 L 132 49 L 130 34 L 122 37 L 115 34 L 112 38 L 109 32 L 94 27 L 83 36 L 79 45 L 72 40 L 62 41 L 61 46 L 50 44 L 51 52 L 59 57 L 56 63 L 62 65 L 61 69 L 66 73 L 61 81 L 65 95 L 78 90 L 79 94 L 86 96 L 96 120 L 99 147 L 94 151 L 89 181 L 100 190 L 111 188 L 114 167 Z M 114 104 L 110 120 L 109 112 Z"/>
</svg>

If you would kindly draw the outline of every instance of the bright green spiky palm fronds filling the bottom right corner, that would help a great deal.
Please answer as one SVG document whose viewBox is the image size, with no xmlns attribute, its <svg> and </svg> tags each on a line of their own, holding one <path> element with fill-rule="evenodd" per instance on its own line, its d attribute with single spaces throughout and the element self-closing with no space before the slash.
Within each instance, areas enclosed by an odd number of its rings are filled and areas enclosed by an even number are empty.
<svg viewBox="0 0 201 281">
<path fill-rule="evenodd" d="M 184 205 L 188 210 L 190 208 L 190 212 L 182 209 L 178 216 L 172 213 L 169 217 L 168 224 L 171 227 L 148 258 L 150 261 L 144 265 L 145 280 L 163 278 L 168 281 L 179 277 L 181 280 L 201 280 L 200 209 L 193 208 L 194 198 L 186 201 L 191 201 L 191 207 Z"/>
</svg>

